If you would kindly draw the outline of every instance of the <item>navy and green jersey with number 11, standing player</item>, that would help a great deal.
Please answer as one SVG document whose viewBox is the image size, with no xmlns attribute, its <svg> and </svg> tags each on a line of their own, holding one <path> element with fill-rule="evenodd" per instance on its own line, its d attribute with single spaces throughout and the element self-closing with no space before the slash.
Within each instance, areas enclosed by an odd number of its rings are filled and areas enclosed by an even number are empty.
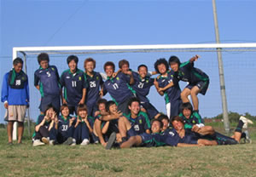
<svg viewBox="0 0 256 177">
<path fill-rule="evenodd" d="M 75 73 L 70 70 L 61 74 L 61 87 L 64 87 L 64 98 L 68 106 L 77 106 L 83 97 L 83 89 L 87 88 L 84 71 L 77 69 Z"/>
</svg>

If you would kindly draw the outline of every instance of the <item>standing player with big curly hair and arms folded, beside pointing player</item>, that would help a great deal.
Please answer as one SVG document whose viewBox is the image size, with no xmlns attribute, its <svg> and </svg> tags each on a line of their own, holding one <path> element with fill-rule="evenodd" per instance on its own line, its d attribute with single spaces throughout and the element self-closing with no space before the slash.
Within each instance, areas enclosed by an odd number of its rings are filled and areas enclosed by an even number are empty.
<svg viewBox="0 0 256 177">
<path fill-rule="evenodd" d="M 168 71 L 169 66 L 166 59 L 156 60 L 154 69 L 160 73 L 160 76 L 154 81 L 154 86 L 161 96 L 165 95 L 167 116 L 169 118 L 177 116 L 181 104 L 181 90 L 177 79 L 174 80 L 173 72 Z"/>
</svg>

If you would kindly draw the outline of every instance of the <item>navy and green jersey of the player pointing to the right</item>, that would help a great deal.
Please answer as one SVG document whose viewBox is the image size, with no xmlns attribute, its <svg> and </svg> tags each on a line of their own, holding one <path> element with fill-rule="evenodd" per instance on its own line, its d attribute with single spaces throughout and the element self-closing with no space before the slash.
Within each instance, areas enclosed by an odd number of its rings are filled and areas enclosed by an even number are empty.
<svg viewBox="0 0 256 177">
<path fill-rule="evenodd" d="M 196 84 L 198 82 L 206 82 L 209 80 L 207 74 L 198 68 L 194 67 L 194 62 L 184 62 L 179 66 L 178 71 L 175 72 L 175 77 L 178 80 Z"/>
</svg>

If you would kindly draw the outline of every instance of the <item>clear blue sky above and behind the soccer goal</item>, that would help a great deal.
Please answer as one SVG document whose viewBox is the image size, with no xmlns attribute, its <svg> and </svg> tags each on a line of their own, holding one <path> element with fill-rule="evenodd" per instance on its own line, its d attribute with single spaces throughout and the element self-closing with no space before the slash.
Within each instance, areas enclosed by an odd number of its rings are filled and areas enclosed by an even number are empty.
<svg viewBox="0 0 256 177">
<path fill-rule="evenodd" d="M 216 0 L 221 43 L 256 43 L 256 1 Z M 90 46 L 137 44 L 216 43 L 212 1 L 210 0 L 0 0 L 0 84 L 12 67 L 14 47 Z M 150 71 L 154 61 L 177 55 L 186 61 L 195 54 L 201 59 L 195 66 L 210 77 L 205 96 L 199 95 L 202 117 L 222 112 L 215 53 L 147 53 L 79 55 L 96 60 L 96 71 L 103 71 L 107 60 L 115 64 L 129 60 L 131 69 L 144 63 Z M 19 55 L 22 56 L 22 55 Z M 67 69 L 67 55 L 50 55 L 50 64 Z M 224 77 L 229 111 L 256 115 L 255 52 L 224 53 Z M 40 95 L 33 87 L 33 72 L 38 69 L 36 56 L 28 56 L 27 70 L 31 90 L 30 117 L 38 117 Z M 181 83 L 184 88 L 184 83 Z M 108 98 L 108 97 L 107 97 Z M 165 112 L 164 98 L 151 88 L 149 100 Z M 3 123 L 3 103 L 0 123 Z"/>
</svg>

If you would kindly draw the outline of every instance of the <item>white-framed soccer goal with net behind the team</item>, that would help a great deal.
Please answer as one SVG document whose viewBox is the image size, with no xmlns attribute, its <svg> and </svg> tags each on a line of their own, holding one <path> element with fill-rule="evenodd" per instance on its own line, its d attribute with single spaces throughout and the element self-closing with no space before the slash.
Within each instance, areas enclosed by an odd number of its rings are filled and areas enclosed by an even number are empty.
<svg viewBox="0 0 256 177">
<path fill-rule="evenodd" d="M 59 74 L 68 68 L 67 56 L 75 54 L 79 57 L 79 69 L 84 70 L 84 60 L 91 57 L 96 60 L 96 71 L 104 72 L 106 61 L 113 61 L 118 69 L 118 61 L 125 59 L 130 68 L 137 71 L 137 66 L 145 64 L 148 71 L 154 71 L 154 62 L 160 58 L 169 60 L 177 55 L 182 61 L 189 60 L 195 54 L 201 58 L 195 67 L 205 71 L 210 77 L 210 85 L 205 96 L 199 95 L 199 109 L 202 117 L 216 117 L 228 111 L 241 114 L 249 112 L 256 115 L 255 82 L 256 43 L 207 43 L 207 44 L 157 44 L 157 45 L 113 45 L 113 46 L 60 46 L 60 47 L 15 47 L 13 59 L 20 56 L 24 59 L 24 70 L 29 77 L 30 108 L 29 115 L 36 121 L 39 110 L 40 94 L 33 86 L 33 72 L 38 69 L 37 55 L 49 54 L 49 64 L 57 66 Z M 218 61 L 218 52 L 222 53 L 222 62 Z M 223 63 L 223 64 L 222 64 Z M 221 70 L 224 73 L 220 72 Z M 224 78 L 224 83 L 220 82 Z M 180 82 L 183 89 L 186 83 Z M 224 94 L 223 94 L 224 93 Z M 165 101 L 151 88 L 149 100 L 159 111 L 166 113 Z M 228 117 L 224 128 L 229 128 Z"/>
</svg>

